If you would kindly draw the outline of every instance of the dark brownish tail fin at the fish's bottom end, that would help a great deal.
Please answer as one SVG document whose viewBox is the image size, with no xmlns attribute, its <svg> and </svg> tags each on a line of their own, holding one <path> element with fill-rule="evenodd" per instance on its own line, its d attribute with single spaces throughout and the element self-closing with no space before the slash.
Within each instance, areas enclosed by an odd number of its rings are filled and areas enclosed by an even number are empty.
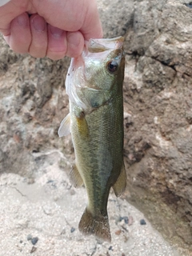
<svg viewBox="0 0 192 256">
<path fill-rule="evenodd" d="M 82 232 L 82 234 L 94 234 L 96 238 L 102 242 L 111 241 L 110 225 L 107 215 L 103 216 L 99 214 L 98 216 L 93 216 L 90 211 L 86 209 L 78 224 L 78 230 Z"/>
</svg>

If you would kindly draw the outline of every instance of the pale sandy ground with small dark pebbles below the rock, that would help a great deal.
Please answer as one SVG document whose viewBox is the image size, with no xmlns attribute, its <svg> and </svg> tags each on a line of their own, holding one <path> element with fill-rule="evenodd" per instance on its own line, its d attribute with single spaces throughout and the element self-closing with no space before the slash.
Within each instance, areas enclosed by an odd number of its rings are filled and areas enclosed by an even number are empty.
<svg viewBox="0 0 192 256">
<path fill-rule="evenodd" d="M 0 255 L 178 256 L 126 200 L 110 194 L 108 214 L 112 242 L 97 242 L 78 231 L 86 207 L 86 190 L 74 189 L 64 170 L 43 163 L 34 181 L 17 174 L 0 175 Z M 145 219 L 146 225 L 140 220 Z M 33 244 L 34 243 L 34 244 Z"/>
</svg>

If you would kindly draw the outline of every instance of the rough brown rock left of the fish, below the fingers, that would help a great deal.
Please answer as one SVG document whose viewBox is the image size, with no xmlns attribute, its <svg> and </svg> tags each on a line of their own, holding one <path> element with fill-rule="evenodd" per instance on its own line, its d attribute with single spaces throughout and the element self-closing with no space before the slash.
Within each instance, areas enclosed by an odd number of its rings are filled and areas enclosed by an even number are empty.
<svg viewBox="0 0 192 256">
<path fill-rule="evenodd" d="M 70 60 L 14 54 L 3 40 L 0 48 L 0 172 L 32 175 L 38 168 L 33 152 L 71 150 L 57 135 L 68 111 L 64 82 Z"/>
</svg>

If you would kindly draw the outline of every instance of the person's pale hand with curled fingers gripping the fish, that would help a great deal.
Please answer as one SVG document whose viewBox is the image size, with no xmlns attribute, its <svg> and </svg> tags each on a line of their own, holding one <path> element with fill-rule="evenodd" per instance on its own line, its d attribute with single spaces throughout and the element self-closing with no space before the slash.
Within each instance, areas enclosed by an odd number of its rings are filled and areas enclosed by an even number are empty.
<svg viewBox="0 0 192 256">
<path fill-rule="evenodd" d="M 0 32 L 15 52 L 53 60 L 102 38 L 96 0 L 11 0 L 0 6 Z"/>
</svg>

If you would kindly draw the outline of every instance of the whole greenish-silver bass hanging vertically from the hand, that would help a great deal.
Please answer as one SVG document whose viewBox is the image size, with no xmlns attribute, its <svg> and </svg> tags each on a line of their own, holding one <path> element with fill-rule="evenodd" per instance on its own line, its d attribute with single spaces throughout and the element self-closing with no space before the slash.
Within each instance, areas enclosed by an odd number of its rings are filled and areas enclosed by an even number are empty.
<svg viewBox="0 0 192 256">
<path fill-rule="evenodd" d="M 124 38 L 99 38 L 85 42 L 72 58 L 66 75 L 70 113 L 58 136 L 71 133 L 75 164 L 70 171 L 74 187 L 84 185 L 88 197 L 78 229 L 110 242 L 107 202 L 110 188 L 118 197 L 126 190 L 123 161 Z"/>
</svg>

